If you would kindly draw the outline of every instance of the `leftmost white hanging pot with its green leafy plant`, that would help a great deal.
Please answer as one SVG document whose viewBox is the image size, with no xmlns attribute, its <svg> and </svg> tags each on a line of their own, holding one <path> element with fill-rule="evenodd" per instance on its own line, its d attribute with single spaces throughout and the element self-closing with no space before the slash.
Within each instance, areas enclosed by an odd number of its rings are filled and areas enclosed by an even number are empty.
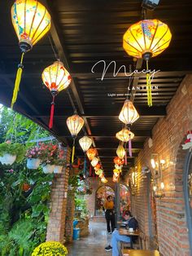
<svg viewBox="0 0 192 256">
<path fill-rule="evenodd" d="M 0 143 L 0 161 L 2 164 L 12 165 L 15 161 L 20 162 L 24 159 L 25 147 L 20 143 L 11 143 L 7 140 Z"/>
</svg>

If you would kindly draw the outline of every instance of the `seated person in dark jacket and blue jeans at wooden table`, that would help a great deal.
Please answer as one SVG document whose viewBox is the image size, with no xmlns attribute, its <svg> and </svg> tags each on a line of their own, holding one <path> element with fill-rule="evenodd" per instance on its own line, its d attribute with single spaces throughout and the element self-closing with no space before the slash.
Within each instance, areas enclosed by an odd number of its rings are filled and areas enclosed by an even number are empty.
<svg viewBox="0 0 192 256">
<path fill-rule="evenodd" d="M 132 227 L 133 231 L 135 231 L 137 229 L 137 227 L 138 227 L 137 220 L 136 220 L 136 218 L 134 218 L 132 216 L 132 214 L 130 213 L 129 210 L 126 210 L 124 212 L 124 220 L 125 220 L 124 224 L 126 224 L 126 228 Z M 134 241 L 134 238 L 135 237 L 133 237 L 133 241 Z M 119 249 L 118 249 L 118 242 L 120 242 L 120 241 L 129 243 L 130 242 L 130 237 L 129 236 L 120 235 L 118 230 L 115 230 L 112 233 L 111 245 L 108 245 L 105 248 L 105 250 L 107 252 L 112 250 L 112 256 L 119 256 L 120 253 L 119 253 Z"/>
</svg>

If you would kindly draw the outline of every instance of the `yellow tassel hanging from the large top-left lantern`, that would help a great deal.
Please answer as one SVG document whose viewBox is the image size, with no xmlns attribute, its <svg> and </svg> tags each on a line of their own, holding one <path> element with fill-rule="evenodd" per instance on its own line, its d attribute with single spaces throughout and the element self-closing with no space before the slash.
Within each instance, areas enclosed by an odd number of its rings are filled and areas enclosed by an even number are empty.
<svg viewBox="0 0 192 256">
<path fill-rule="evenodd" d="M 15 77 L 15 87 L 14 87 L 13 96 L 11 99 L 11 109 L 13 108 L 13 105 L 16 102 L 17 95 L 20 90 L 20 80 L 21 80 L 21 76 L 22 76 L 22 72 L 23 72 L 23 68 L 24 68 L 23 60 L 24 60 L 24 52 L 22 52 L 20 64 L 18 65 L 18 69 L 17 69 L 17 73 L 16 73 L 16 77 Z"/>
</svg>

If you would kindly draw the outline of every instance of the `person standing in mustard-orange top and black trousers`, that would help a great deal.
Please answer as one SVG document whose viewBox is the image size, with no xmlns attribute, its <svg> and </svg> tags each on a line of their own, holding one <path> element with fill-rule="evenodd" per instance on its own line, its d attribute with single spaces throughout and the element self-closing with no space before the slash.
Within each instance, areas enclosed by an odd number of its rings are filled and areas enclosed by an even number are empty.
<svg viewBox="0 0 192 256">
<path fill-rule="evenodd" d="M 115 229 L 115 210 L 112 196 L 107 196 L 107 201 L 104 204 L 105 218 L 107 221 L 107 232 L 111 234 Z"/>
</svg>

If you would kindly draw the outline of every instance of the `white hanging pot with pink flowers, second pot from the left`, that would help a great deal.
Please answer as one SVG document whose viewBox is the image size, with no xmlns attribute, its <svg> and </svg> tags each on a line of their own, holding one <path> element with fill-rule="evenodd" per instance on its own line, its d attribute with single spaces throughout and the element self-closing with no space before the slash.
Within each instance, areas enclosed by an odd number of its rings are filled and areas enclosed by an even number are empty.
<svg viewBox="0 0 192 256">
<path fill-rule="evenodd" d="M 37 169 L 40 166 L 40 148 L 37 146 L 33 146 L 32 148 L 28 148 L 26 152 L 26 157 L 28 157 L 27 167 L 28 169 Z"/>
</svg>

